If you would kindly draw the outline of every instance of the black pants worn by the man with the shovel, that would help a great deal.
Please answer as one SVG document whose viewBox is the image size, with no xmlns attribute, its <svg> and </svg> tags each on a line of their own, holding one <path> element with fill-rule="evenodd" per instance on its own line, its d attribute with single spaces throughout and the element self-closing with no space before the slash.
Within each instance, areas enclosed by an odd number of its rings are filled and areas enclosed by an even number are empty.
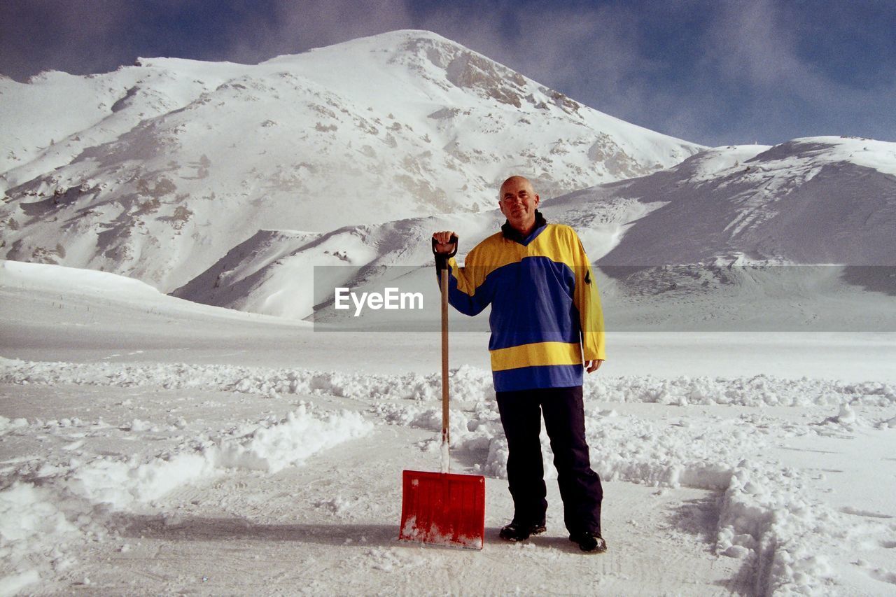
<svg viewBox="0 0 896 597">
<path fill-rule="evenodd" d="M 507 480 L 513 496 L 513 520 L 536 523 L 547 511 L 547 488 L 541 459 L 541 412 L 554 451 L 564 523 L 571 533 L 600 532 L 604 490 L 591 470 L 585 441 L 582 386 L 497 392 L 498 410 L 507 437 Z"/>
</svg>

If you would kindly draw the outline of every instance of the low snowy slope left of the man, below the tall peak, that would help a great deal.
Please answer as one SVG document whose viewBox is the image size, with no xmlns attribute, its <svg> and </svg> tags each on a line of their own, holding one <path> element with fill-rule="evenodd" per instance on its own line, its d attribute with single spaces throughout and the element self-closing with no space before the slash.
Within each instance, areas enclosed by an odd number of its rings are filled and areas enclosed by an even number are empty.
<svg viewBox="0 0 896 597">
<path fill-rule="evenodd" d="M 333 315 L 332 309 L 325 313 L 321 308 L 332 307 L 336 287 L 382 290 L 394 282 L 403 291 L 429 294 L 436 288 L 430 267 L 432 232 L 455 229 L 464 238 L 461 251 L 466 253 L 500 221 L 499 212 L 485 212 L 350 226 L 325 234 L 261 230 L 173 294 L 272 316 L 304 319 L 316 313 L 315 321 L 322 321 Z"/>
</svg>

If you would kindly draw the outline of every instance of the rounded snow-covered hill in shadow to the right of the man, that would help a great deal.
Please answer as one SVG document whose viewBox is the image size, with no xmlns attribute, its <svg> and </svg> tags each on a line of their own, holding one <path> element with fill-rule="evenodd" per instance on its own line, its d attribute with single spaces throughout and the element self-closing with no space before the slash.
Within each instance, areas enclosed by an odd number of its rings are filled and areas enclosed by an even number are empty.
<svg viewBox="0 0 896 597">
<path fill-rule="evenodd" d="M 610 233 L 595 256 L 619 328 L 896 329 L 896 143 L 719 147 L 556 204 Z"/>
</svg>

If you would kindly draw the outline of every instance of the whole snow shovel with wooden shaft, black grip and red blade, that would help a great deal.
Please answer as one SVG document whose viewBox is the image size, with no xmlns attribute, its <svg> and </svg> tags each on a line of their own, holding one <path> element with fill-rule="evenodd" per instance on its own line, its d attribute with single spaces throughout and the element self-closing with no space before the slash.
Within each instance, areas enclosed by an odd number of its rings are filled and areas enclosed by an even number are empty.
<svg viewBox="0 0 896 597">
<path fill-rule="evenodd" d="M 452 237 L 452 241 L 456 252 L 457 237 Z M 436 255 L 436 258 L 444 258 L 447 263 L 451 255 Z M 399 539 L 482 549 L 486 535 L 486 478 L 449 472 L 447 267 L 441 269 L 439 275 L 442 286 L 442 472 L 402 472 Z"/>
</svg>

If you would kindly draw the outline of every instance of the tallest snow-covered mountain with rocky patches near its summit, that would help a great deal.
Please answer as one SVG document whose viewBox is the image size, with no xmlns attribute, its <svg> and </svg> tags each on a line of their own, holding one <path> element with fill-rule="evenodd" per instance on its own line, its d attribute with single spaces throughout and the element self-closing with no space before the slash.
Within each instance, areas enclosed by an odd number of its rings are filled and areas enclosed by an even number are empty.
<svg viewBox="0 0 896 597">
<path fill-rule="evenodd" d="M 0 255 L 163 291 L 260 229 L 479 212 L 509 172 L 560 195 L 700 149 L 426 31 L 261 65 L 153 58 L 3 79 L 0 94 Z"/>
</svg>

